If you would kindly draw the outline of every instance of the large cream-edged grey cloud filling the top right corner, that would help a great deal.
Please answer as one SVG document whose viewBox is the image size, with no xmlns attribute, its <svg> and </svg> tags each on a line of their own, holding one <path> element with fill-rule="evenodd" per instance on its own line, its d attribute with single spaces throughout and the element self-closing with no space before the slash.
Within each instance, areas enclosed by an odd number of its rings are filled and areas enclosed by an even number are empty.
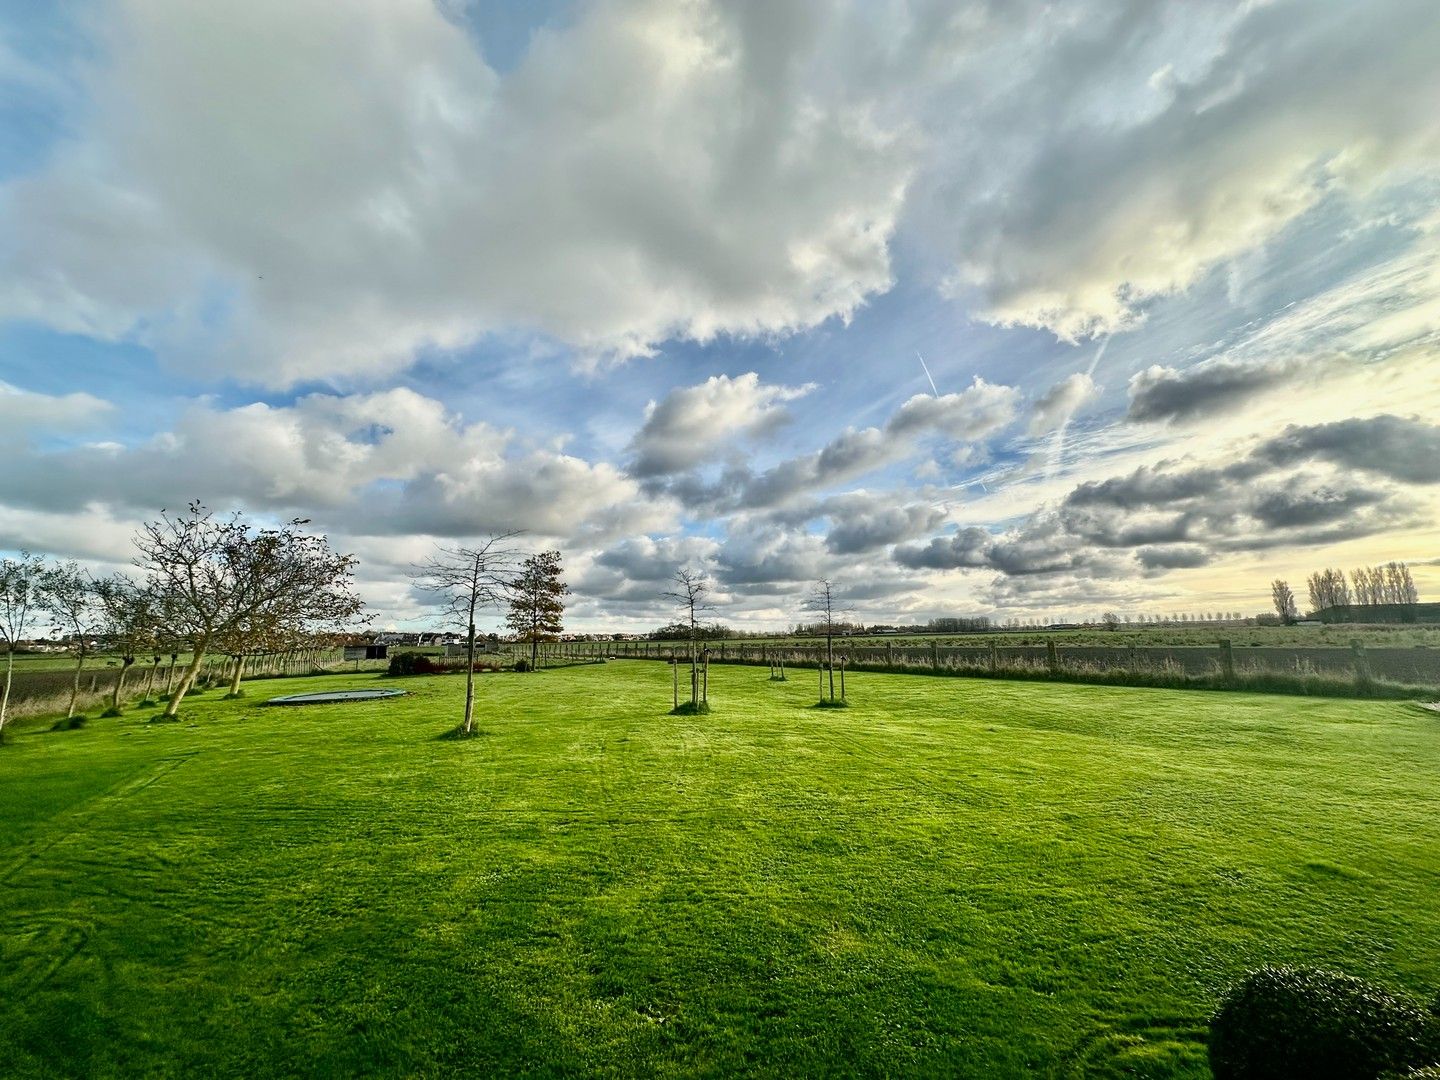
<svg viewBox="0 0 1440 1080">
<path fill-rule="evenodd" d="M 968 132 L 940 151 L 965 180 L 922 176 L 916 228 L 952 238 L 952 291 L 996 324 L 1133 327 L 1326 200 L 1434 173 L 1431 16 L 1426 0 L 1094 4 L 1043 35 L 1005 23 L 968 63 L 989 92 L 936 95 Z"/>
</svg>

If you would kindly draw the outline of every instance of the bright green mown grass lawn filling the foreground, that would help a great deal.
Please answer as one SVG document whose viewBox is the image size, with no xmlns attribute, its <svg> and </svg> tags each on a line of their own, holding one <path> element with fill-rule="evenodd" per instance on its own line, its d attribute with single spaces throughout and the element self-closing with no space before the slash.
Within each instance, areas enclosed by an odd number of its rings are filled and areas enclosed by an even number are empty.
<svg viewBox="0 0 1440 1080">
<path fill-rule="evenodd" d="M 616 662 L 0 750 L 7 1076 L 1184 1076 L 1266 960 L 1440 984 L 1440 716 Z"/>
</svg>

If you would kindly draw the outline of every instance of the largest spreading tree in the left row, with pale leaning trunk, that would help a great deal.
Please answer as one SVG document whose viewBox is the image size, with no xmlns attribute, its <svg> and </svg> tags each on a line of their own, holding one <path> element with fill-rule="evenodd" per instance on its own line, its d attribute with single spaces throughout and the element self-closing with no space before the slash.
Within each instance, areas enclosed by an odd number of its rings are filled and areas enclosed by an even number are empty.
<svg viewBox="0 0 1440 1080">
<path fill-rule="evenodd" d="M 245 626 L 275 621 L 328 621 L 338 608 L 359 612 L 350 592 L 356 559 L 336 554 L 323 536 L 301 531 L 292 518 L 279 528 L 256 528 L 239 513 L 216 518 L 200 503 L 184 514 L 161 511 L 135 537 L 135 566 L 167 613 L 170 628 L 190 647 L 190 662 L 166 703 L 179 716 L 206 654 Z"/>
</svg>

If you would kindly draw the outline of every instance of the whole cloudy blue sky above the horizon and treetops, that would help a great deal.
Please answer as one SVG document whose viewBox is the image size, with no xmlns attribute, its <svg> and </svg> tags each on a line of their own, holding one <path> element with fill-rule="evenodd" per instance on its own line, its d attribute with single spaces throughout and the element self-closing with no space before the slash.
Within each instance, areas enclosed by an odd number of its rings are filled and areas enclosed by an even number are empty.
<svg viewBox="0 0 1440 1080">
<path fill-rule="evenodd" d="M 1440 599 L 1433 0 L 0 0 L 0 552 L 305 517 L 379 625 Z"/>
</svg>

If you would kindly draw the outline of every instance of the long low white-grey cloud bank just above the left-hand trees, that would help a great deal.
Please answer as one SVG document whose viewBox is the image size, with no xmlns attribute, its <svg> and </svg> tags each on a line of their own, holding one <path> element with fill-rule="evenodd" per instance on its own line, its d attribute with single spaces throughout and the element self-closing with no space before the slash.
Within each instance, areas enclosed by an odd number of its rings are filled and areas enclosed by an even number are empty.
<svg viewBox="0 0 1440 1080">
<path fill-rule="evenodd" d="M 350 534 L 521 528 L 590 540 L 668 521 L 615 467 L 516 449 L 507 432 L 405 389 L 193 405 L 140 445 L 27 451 L 13 464 L 0 472 L 0 500 L 58 513 L 99 504 L 144 514 L 202 498 L 314 514 Z"/>
</svg>

